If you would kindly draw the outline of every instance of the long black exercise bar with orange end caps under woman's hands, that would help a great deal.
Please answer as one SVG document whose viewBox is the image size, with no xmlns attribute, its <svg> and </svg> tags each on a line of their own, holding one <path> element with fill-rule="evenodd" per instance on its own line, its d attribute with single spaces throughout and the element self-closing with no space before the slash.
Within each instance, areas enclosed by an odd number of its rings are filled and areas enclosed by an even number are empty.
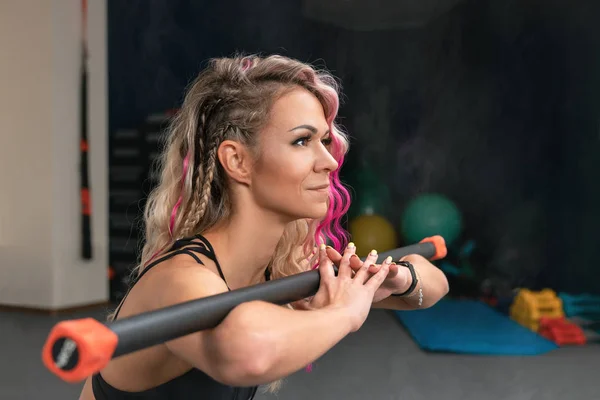
<svg viewBox="0 0 600 400">
<path fill-rule="evenodd" d="M 440 259 L 446 255 L 446 246 L 442 237 L 431 237 L 383 252 L 376 263 L 388 256 L 398 260 L 409 254 Z M 242 303 L 261 300 L 283 305 L 310 297 L 318 291 L 320 279 L 315 269 L 116 321 L 61 321 L 51 330 L 42 359 L 63 380 L 77 382 L 103 369 L 112 358 L 214 328 Z"/>
</svg>

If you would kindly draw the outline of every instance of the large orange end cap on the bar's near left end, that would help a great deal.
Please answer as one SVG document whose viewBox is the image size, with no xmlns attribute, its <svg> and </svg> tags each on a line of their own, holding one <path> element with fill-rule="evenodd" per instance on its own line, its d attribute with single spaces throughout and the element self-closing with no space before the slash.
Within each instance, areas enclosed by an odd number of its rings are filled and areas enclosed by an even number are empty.
<svg viewBox="0 0 600 400">
<path fill-rule="evenodd" d="M 50 331 L 42 349 L 42 361 L 46 368 L 62 380 L 80 382 L 108 364 L 118 341 L 119 338 L 113 331 L 93 318 L 63 321 Z M 55 349 L 58 346 L 60 347 Z M 67 365 L 59 366 L 54 360 L 53 352 L 58 353 L 57 358 L 62 357 L 62 362 Z M 73 355 L 74 352 L 77 354 Z"/>
</svg>

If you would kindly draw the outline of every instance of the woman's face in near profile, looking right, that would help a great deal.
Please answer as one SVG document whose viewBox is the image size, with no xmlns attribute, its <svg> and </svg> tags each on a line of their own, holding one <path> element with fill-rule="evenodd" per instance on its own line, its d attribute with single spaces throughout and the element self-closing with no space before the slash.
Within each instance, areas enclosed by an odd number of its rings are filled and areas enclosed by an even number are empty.
<svg viewBox="0 0 600 400">
<path fill-rule="evenodd" d="M 338 163 L 323 106 L 303 88 L 274 104 L 260 132 L 260 155 L 252 170 L 257 204 L 284 218 L 321 219 L 327 213 L 329 174 Z"/>
</svg>

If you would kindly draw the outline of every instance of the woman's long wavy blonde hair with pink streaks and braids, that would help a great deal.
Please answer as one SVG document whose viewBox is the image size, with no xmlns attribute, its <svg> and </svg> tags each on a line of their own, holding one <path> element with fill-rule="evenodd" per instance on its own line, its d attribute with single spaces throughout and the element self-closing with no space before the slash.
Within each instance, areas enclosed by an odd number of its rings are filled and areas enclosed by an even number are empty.
<svg viewBox="0 0 600 400">
<path fill-rule="evenodd" d="M 341 166 L 348 141 L 334 122 L 339 97 L 333 76 L 279 55 L 210 60 L 189 86 L 166 132 L 158 163 L 160 180 L 146 203 L 145 244 L 134 275 L 177 239 L 205 232 L 231 215 L 232 199 L 217 148 L 224 140 L 235 140 L 258 155 L 257 134 L 266 124 L 271 106 L 294 87 L 308 90 L 323 105 L 333 139 L 332 155 Z M 349 195 L 339 182 L 338 171 L 330 177 L 327 216 L 321 221 L 297 220 L 285 228 L 267 267 L 273 279 L 314 265 L 313 249 L 318 242 L 329 239 L 335 247 L 345 245 L 339 221 L 349 206 Z M 279 384 L 275 382 L 269 389 L 274 391 Z"/>
</svg>

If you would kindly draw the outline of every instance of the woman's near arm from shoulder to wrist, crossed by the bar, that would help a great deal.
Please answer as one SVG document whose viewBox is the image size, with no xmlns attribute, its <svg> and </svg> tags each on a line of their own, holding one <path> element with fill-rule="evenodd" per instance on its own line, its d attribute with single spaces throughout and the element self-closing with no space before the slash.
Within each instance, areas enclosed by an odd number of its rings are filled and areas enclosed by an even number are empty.
<svg viewBox="0 0 600 400">
<path fill-rule="evenodd" d="M 162 278 L 153 277 L 169 289 L 163 289 L 152 308 L 227 290 L 223 281 L 205 268 L 173 267 Z M 350 314 L 343 307 L 296 311 L 253 301 L 234 308 L 217 327 L 172 340 L 166 346 L 219 382 L 253 386 L 288 376 L 318 359 L 353 330 Z"/>
</svg>

